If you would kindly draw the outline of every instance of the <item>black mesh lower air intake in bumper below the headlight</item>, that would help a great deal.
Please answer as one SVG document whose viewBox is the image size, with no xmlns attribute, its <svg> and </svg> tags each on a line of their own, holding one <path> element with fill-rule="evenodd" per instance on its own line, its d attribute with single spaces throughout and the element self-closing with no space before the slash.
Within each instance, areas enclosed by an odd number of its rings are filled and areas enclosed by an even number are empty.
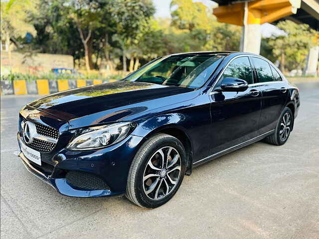
<svg viewBox="0 0 319 239">
<path fill-rule="evenodd" d="M 87 172 L 70 171 L 65 177 L 67 183 L 88 190 L 110 190 L 110 187 L 98 176 Z"/>
</svg>

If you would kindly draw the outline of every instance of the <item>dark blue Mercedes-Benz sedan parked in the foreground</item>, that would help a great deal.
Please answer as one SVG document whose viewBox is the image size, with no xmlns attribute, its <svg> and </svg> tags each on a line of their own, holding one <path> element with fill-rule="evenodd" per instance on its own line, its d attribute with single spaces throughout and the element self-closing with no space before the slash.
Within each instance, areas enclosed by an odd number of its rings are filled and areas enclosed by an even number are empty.
<svg viewBox="0 0 319 239">
<path fill-rule="evenodd" d="M 27 104 L 19 156 L 63 195 L 125 194 L 156 208 L 193 167 L 259 140 L 284 144 L 299 106 L 298 88 L 262 56 L 172 54 Z"/>
</svg>

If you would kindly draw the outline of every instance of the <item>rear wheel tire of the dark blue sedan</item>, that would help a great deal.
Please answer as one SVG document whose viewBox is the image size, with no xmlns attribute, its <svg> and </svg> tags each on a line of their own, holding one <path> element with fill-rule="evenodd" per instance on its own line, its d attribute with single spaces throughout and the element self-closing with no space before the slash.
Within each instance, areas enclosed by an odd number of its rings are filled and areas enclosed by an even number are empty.
<svg viewBox="0 0 319 239">
<path fill-rule="evenodd" d="M 289 115 L 290 123 L 285 122 L 287 120 L 287 115 Z M 292 111 L 288 107 L 286 107 L 279 117 L 276 129 L 275 129 L 275 133 L 267 136 L 264 139 L 264 141 L 267 143 L 270 143 L 270 144 L 274 144 L 274 145 L 283 145 L 284 143 L 287 142 L 289 135 L 290 135 L 290 132 L 293 129 L 293 126 L 294 126 L 294 115 L 293 115 Z M 289 128 L 289 129 L 287 129 L 287 128 Z M 282 137 L 283 136 L 283 133 L 282 133 L 283 129 L 286 130 L 285 137 Z"/>
</svg>

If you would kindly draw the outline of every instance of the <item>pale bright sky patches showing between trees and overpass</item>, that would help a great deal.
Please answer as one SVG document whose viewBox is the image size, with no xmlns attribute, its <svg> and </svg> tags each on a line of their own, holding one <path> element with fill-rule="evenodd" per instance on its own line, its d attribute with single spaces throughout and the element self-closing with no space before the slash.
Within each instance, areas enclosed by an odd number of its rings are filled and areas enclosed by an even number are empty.
<svg viewBox="0 0 319 239">
<path fill-rule="evenodd" d="M 217 6 L 217 4 L 211 0 L 193 0 L 193 1 L 200 1 L 204 3 L 209 8 L 213 8 L 214 6 Z M 171 0 L 153 0 L 155 7 L 156 7 L 156 13 L 155 16 L 157 17 L 170 17 L 170 10 L 169 10 L 169 4 Z M 265 23 L 262 25 L 262 35 L 263 37 L 269 37 L 272 33 L 280 34 L 281 30 L 279 30 L 276 26 Z"/>
</svg>

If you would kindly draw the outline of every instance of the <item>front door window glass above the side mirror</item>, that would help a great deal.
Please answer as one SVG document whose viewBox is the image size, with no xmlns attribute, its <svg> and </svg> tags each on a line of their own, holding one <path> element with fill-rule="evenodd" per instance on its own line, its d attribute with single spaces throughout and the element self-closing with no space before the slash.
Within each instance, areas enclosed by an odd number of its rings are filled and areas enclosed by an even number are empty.
<svg viewBox="0 0 319 239">
<path fill-rule="evenodd" d="M 248 57 L 239 57 L 233 60 L 224 71 L 223 77 L 235 77 L 253 84 L 253 74 Z"/>
</svg>

